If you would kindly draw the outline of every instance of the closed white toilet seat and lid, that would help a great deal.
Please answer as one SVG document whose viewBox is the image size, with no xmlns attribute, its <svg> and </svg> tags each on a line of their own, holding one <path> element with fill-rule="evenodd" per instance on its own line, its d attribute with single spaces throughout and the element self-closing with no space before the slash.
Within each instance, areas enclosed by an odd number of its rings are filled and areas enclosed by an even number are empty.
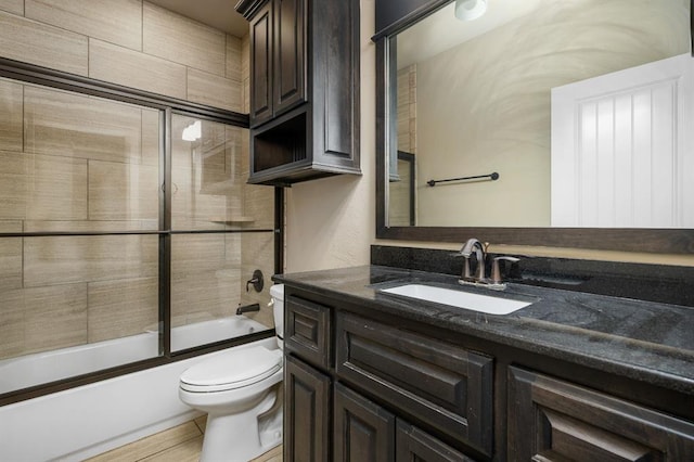
<svg viewBox="0 0 694 462">
<path fill-rule="evenodd" d="M 194 393 L 226 392 L 258 383 L 281 368 L 282 351 L 244 348 L 193 365 L 181 374 L 180 386 Z"/>
</svg>

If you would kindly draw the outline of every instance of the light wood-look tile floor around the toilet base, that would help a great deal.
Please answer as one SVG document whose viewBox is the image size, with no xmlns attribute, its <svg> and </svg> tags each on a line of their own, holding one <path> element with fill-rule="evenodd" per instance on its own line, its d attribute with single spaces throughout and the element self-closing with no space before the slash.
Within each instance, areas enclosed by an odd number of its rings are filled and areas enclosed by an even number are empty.
<svg viewBox="0 0 694 462">
<path fill-rule="evenodd" d="M 197 462 L 203 449 L 203 434 L 207 416 L 195 419 L 174 428 L 113 449 L 88 462 Z M 250 462 L 282 462 L 282 446 Z"/>
</svg>

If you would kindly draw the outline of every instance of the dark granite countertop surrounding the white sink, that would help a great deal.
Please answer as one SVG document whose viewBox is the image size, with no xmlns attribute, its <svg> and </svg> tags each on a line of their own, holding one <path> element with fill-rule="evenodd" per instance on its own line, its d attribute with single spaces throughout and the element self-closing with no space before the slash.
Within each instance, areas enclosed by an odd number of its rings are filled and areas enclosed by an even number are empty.
<svg viewBox="0 0 694 462">
<path fill-rule="evenodd" d="M 382 266 L 278 274 L 273 280 L 376 312 L 474 335 L 694 395 L 694 308 L 510 283 L 461 286 L 458 278 Z M 426 283 L 524 300 L 511 315 L 485 315 L 383 293 Z"/>
</svg>

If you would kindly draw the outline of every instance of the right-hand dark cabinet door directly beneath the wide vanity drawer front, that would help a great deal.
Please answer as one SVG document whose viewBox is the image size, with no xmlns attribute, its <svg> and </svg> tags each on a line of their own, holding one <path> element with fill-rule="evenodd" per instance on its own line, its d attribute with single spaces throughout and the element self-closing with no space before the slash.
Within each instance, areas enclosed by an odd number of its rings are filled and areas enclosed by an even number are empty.
<svg viewBox="0 0 694 462">
<path fill-rule="evenodd" d="M 474 462 L 441 440 L 398 419 L 396 460 L 423 462 Z"/>
</svg>

